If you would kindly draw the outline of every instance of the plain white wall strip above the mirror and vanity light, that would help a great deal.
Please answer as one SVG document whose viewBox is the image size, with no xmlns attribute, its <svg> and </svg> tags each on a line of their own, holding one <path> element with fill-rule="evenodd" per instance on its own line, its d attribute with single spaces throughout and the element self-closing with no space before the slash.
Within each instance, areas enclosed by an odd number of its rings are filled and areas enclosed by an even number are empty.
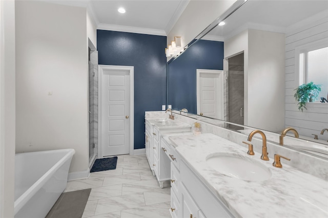
<svg viewBox="0 0 328 218">
<path fill-rule="evenodd" d="M 181 36 L 181 48 L 183 48 L 235 2 L 236 0 L 190 1 L 167 34 L 167 44 L 171 44 L 174 36 Z"/>
</svg>

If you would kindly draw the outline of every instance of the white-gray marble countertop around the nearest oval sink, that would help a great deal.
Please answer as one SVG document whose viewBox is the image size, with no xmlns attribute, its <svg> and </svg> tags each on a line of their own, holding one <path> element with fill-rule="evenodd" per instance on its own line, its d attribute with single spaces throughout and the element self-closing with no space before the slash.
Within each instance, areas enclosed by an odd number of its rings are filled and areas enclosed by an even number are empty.
<svg viewBox="0 0 328 218">
<path fill-rule="evenodd" d="M 272 165 L 273 154 L 269 154 L 269 161 L 264 161 L 258 152 L 247 155 L 246 144 L 213 134 L 165 137 L 168 138 L 181 158 L 236 217 L 328 217 L 328 182 L 300 172 L 284 159 L 283 167 L 276 168 Z M 221 174 L 206 162 L 208 155 L 218 152 L 259 161 L 270 169 L 272 176 L 253 182 Z"/>
</svg>

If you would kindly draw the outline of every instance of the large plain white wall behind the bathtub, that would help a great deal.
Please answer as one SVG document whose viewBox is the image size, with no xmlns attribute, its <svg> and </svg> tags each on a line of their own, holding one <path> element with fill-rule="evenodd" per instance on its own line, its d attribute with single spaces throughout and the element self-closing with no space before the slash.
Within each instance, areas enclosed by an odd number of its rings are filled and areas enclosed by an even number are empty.
<svg viewBox="0 0 328 218">
<path fill-rule="evenodd" d="M 16 153 L 75 149 L 70 172 L 89 167 L 86 20 L 85 8 L 16 1 Z"/>
</svg>

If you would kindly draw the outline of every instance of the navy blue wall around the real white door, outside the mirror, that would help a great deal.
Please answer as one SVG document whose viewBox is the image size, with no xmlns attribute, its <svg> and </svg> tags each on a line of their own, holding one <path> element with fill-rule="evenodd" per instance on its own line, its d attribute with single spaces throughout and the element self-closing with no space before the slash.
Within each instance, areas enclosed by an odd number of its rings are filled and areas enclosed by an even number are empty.
<svg viewBox="0 0 328 218">
<path fill-rule="evenodd" d="M 134 149 L 145 148 L 145 111 L 166 105 L 167 37 L 97 30 L 98 64 L 134 66 Z"/>
</svg>

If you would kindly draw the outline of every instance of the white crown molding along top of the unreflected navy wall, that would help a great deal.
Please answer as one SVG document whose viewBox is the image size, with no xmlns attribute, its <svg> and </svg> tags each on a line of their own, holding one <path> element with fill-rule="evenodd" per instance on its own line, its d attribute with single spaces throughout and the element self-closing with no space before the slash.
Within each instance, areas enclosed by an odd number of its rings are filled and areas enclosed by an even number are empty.
<svg viewBox="0 0 328 218">
<path fill-rule="evenodd" d="M 147 28 L 139 28 L 139 27 L 128 27 L 128 26 L 119 26 L 119 25 L 109 25 L 106 23 L 99 23 L 97 26 L 97 30 L 111 30 L 111 31 L 119 31 L 119 32 L 128 32 L 128 33 L 141 33 L 141 34 L 149 34 L 149 35 L 158 35 L 158 36 L 166 36 L 166 32 L 163 30 L 156 29 L 147 29 Z"/>
</svg>

